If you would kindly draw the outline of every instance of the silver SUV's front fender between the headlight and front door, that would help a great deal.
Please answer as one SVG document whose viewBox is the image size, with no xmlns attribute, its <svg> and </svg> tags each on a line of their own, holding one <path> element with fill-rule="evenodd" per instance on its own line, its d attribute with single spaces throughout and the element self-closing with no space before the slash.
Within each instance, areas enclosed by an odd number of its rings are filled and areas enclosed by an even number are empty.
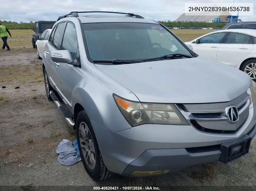
<svg viewBox="0 0 256 191">
<path fill-rule="evenodd" d="M 88 71 L 90 71 L 90 74 Z M 97 75 L 95 75 L 95 72 L 97 72 Z M 131 128 L 119 111 L 112 96 L 112 94 L 115 93 L 126 99 L 139 101 L 130 90 L 125 88 L 122 84 L 116 83 L 116 81 L 114 83 L 113 78 L 94 65 L 90 70 L 81 69 L 80 72 L 77 72 L 73 84 L 75 84 L 71 99 L 73 113 L 75 113 L 75 104 L 79 103 L 85 109 L 90 120 L 100 126 L 114 132 Z M 116 124 L 127 125 L 120 127 L 116 126 Z"/>
</svg>

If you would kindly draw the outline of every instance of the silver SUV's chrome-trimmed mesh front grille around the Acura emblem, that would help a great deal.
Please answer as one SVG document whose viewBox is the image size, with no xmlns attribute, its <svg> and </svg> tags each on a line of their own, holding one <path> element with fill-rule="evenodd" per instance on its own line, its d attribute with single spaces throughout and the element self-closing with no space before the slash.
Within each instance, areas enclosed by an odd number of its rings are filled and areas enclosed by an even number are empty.
<svg viewBox="0 0 256 191">
<path fill-rule="evenodd" d="M 212 133 L 235 133 L 249 116 L 250 96 L 244 92 L 229 102 L 179 104 L 178 107 L 188 115 L 191 124 L 200 131 Z M 228 123 L 225 109 L 234 105 L 239 114 L 236 123 Z"/>
</svg>

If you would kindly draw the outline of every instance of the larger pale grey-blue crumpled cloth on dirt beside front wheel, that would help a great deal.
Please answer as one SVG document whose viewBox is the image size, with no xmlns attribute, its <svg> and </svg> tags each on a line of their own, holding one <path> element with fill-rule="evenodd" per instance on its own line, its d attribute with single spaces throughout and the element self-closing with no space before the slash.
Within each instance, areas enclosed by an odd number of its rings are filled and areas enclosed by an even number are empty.
<svg viewBox="0 0 256 191">
<path fill-rule="evenodd" d="M 81 161 L 81 157 L 78 156 L 72 142 L 68 141 L 67 139 L 63 139 L 62 142 L 60 142 L 56 153 L 59 155 L 58 163 L 66 166 L 70 166 Z"/>
</svg>

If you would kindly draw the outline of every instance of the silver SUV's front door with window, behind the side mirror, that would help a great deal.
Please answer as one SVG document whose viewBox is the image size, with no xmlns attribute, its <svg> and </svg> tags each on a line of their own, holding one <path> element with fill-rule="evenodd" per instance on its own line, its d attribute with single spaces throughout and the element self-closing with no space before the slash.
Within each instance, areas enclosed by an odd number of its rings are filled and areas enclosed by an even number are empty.
<svg viewBox="0 0 256 191">
<path fill-rule="evenodd" d="M 62 41 L 62 50 L 68 50 L 71 54 L 73 60 L 77 59 L 77 49 L 78 49 L 78 40 L 75 25 L 71 22 L 67 23 L 63 41 Z M 79 54 L 78 54 L 79 55 Z M 59 63 L 56 65 L 55 74 L 56 74 L 56 86 L 58 87 L 61 97 L 64 98 L 68 105 L 71 107 L 71 97 L 72 97 L 72 85 L 75 75 L 76 66 L 66 63 Z M 68 106 L 67 105 L 67 106 Z"/>
</svg>

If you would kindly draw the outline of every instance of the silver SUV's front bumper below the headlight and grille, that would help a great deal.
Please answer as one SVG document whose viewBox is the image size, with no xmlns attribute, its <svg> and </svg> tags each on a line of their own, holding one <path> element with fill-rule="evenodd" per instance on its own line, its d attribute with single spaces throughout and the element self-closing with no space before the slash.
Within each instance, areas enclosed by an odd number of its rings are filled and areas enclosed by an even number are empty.
<svg viewBox="0 0 256 191">
<path fill-rule="evenodd" d="M 193 126 L 141 125 L 113 132 L 91 120 L 108 170 L 132 176 L 133 171 L 177 171 L 219 161 L 220 145 L 256 134 L 256 105 L 234 134 L 207 133 Z M 121 125 L 121 124 L 117 124 Z"/>
</svg>

